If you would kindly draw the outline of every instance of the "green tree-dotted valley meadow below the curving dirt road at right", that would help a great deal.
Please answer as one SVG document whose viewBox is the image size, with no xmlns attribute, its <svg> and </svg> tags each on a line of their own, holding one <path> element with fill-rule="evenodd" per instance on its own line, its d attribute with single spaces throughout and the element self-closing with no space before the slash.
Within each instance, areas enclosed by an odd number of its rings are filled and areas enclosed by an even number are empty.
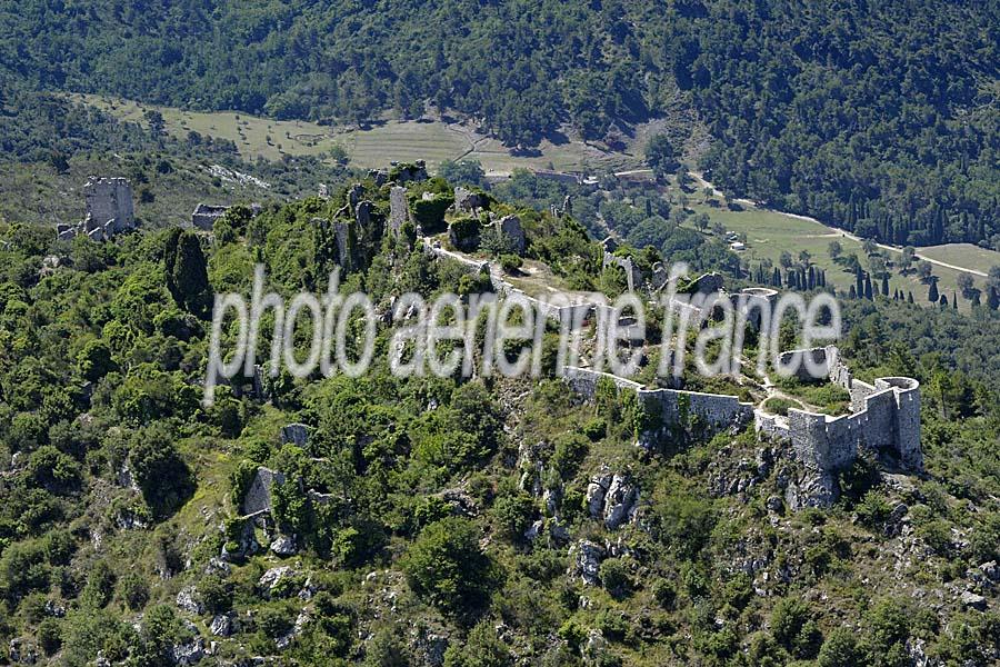
<svg viewBox="0 0 1000 667">
<path fill-rule="evenodd" d="M 726 227 L 727 231 L 746 233 L 747 250 L 740 255 L 743 259 L 749 260 L 751 266 L 764 258 L 774 262 L 774 266 L 779 266 L 778 260 L 783 251 L 790 252 L 793 258 L 798 259 L 799 252 L 806 250 L 810 253 L 811 261 L 817 267 L 827 271 L 827 283 L 833 285 L 837 289 L 844 291 L 850 289 L 850 286 L 853 285 L 854 275 L 844 270 L 842 266 L 832 260 L 829 253 L 830 241 L 836 240 L 841 245 L 843 248 L 842 255 L 844 257 L 852 252 L 857 253 L 858 258 L 861 260 L 862 267 L 867 268 L 868 266 L 867 258 L 859 241 L 848 238 L 838 229 L 818 222 L 811 222 L 793 216 L 752 207 L 746 207 L 742 211 L 730 211 L 704 205 L 692 205 L 691 208 L 693 208 L 696 212 L 708 213 L 713 222 L 719 221 Z M 686 225 L 690 226 L 691 222 L 686 222 Z M 950 249 L 953 247 L 942 246 L 939 248 Z M 923 249 L 921 249 L 921 252 L 922 251 Z M 898 259 L 900 255 L 897 251 L 888 250 L 881 250 L 881 252 L 888 255 L 891 260 Z M 949 257 L 949 259 L 946 259 L 946 257 Z M 961 263 L 961 266 L 969 265 L 969 262 L 963 261 L 963 257 L 960 252 L 954 252 L 952 256 L 944 252 L 941 257 L 936 255 L 934 259 L 940 259 L 941 261 L 949 263 Z M 952 262 L 951 260 L 956 261 Z M 987 266 L 987 269 L 988 268 L 989 266 Z M 959 271 L 934 266 L 933 275 L 939 278 L 938 290 L 941 293 L 947 295 L 950 302 L 952 293 L 959 293 L 957 283 Z M 983 289 L 986 280 L 979 276 L 974 276 L 973 278 L 976 287 Z M 913 273 L 900 276 L 898 272 L 893 271 L 889 279 L 889 290 L 891 292 L 897 288 L 904 293 L 907 291 L 912 291 L 913 299 L 918 303 L 926 305 L 928 302 L 928 286 L 921 282 Z M 960 293 L 959 309 L 970 310 L 969 301 L 963 299 Z"/>
</svg>

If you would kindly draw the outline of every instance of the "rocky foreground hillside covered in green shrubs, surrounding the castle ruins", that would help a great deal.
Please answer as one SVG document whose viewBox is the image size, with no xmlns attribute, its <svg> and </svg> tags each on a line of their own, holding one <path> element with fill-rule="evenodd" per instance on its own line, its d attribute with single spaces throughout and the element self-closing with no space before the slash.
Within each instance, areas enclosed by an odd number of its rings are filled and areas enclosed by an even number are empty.
<svg viewBox="0 0 1000 667">
<path fill-rule="evenodd" d="M 211 292 L 249 293 L 256 262 L 280 293 L 319 289 L 338 250 L 316 221 L 348 186 L 234 207 L 213 236 L 0 225 L 0 663 L 996 664 L 1000 411 L 977 356 L 996 316 L 848 307 L 853 368 L 926 387 L 927 474 L 859 459 L 827 510 L 792 511 L 794 457 L 752 429 L 710 439 L 691 419 L 647 448 L 613 387 L 582 402 L 554 378 L 399 378 L 389 325 L 362 377 L 282 371 L 204 407 Z M 407 290 L 489 285 L 409 225 L 381 236 L 389 185 L 360 192 L 374 223 L 344 293 L 386 312 Z M 514 259 L 608 287 L 574 220 L 489 206 L 524 222 Z M 281 478 L 248 516 L 261 471 Z M 604 478 L 618 490 L 594 500 Z"/>
</svg>

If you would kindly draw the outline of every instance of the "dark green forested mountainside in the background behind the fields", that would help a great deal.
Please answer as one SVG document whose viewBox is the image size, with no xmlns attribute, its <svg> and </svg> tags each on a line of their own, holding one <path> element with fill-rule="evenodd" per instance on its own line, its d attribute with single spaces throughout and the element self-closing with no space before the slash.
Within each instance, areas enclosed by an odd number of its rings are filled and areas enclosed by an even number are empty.
<svg viewBox="0 0 1000 667">
<path fill-rule="evenodd" d="M 900 245 L 997 245 L 998 26 L 997 3 L 931 0 L 31 0 L 0 4 L 0 67 L 329 122 L 429 101 L 511 146 L 693 109 L 734 195 Z"/>
</svg>

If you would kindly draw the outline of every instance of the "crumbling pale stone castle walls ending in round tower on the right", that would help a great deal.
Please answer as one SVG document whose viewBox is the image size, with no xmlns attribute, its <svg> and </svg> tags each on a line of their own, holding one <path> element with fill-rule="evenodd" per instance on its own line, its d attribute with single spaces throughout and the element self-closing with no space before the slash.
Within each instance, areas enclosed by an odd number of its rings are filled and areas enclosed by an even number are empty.
<svg viewBox="0 0 1000 667">
<path fill-rule="evenodd" d="M 404 193 L 403 188 L 399 188 Z M 401 207 L 400 207 L 401 208 Z M 403 211 L 399 211 L 403 219 Z M 426 249 L 442 259 L 458 261 L 470 272 L 488 276 L 493 289 L 501 296 L 516 295 L 532 302 L 544 317 L 561 325 L 573 326 L 598 313 L 608 306 L 580 300 L 557 307 L 533 299 L 506 281 L 489 262 L 477 261 L 459 252 L 452 252 L 424 239 Z M 603 265 L 621 267 L 629 287 L 642 283 L 643 276 L 629 257 L 614 253 L 613 239 L 602 243 Z M 662 267 L 653 267 L 652 276 L 644 282 L 656 291 L 667 282 Z M 702 276 L 689 286 L 689 291 L 714 292 L 722 290 L 722 277 L 717 273 Z M 778 301 L 778 292 L 762 287 L 751 287 L 730 299 L 751 327 L 760 328 L 764 312 L 770 312 Z M 691 322 L 704 322 L 706 312 L 698 306 L 676 302 L 678 310 L 689 309 Z M 912 378 L 878 378 L 874 384 L 856 379 L 841 359 L 836 346 L 794 350 L 781 357 L 788 366 L 793 356 L 809 359 L 813 371 L 844 388 L 851 397 L 850 412 L 831 417 L 808 410 L 790 408 L 788 416 L 772 415 L 752 404 L 741 402 L 736 396 L 684 391 L 679 389 L 648 389 L 639 382 L 586 368 L 568 367 L 563 380 L 587 400 L 593 399 L 600 382 L 607 381 L 619 391 L 632 392 L 642 411 L 642 429 L 639 445 L 652 447 L 663 438 L 672 438 L 678 428 L 692 425 L 707 434 L 728 429 L 742 429 L 751 422 L 761 439 L 788 444 L 801 474 L 786 488 L 788 505 L 793 508 L 828 507 L 839 495 L 839 477 L 851 468 L 862 454 L 871 454 L 898 469 L 920 472 L 923 456 L 920 449 L 920 384 Z M 802 365 L 799 372 L 803 374 Z M 801 377 L 806 377 L 802 375 Z M 816 375 L 809 375 L 816 377 Z"/>
</svg>

